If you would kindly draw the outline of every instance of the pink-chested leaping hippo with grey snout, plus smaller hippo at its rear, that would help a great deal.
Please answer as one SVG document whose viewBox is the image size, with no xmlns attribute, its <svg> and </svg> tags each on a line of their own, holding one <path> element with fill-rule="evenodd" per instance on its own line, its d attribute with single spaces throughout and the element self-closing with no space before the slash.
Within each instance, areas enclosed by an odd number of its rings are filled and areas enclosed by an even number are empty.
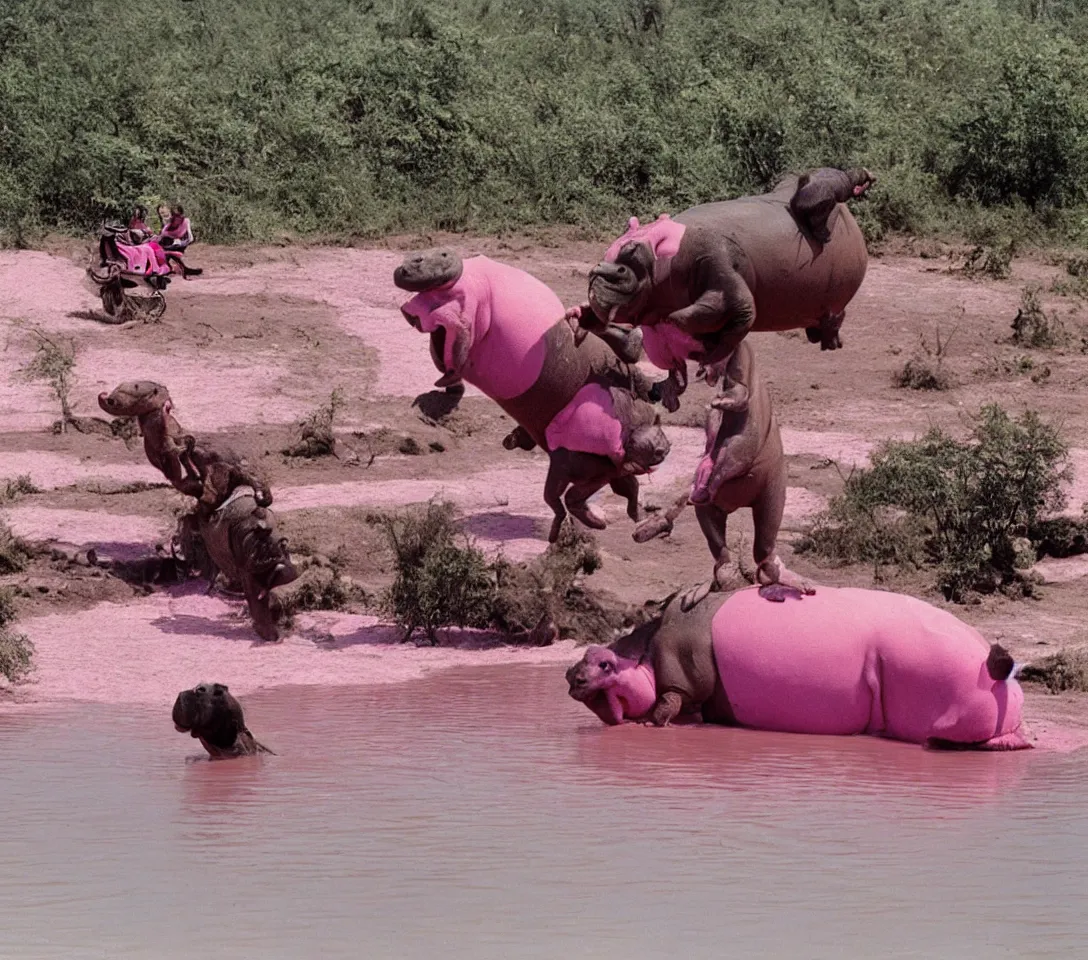
<svg viewBox="0 0 1088 960">
<path fill-rule="evenodd" d="M 435 386 L 463 380 L 479 387 L 518 423 L 503 441 L 507 450 L 540 446 L 552 455 L 545 487 L 556 513 L 551 539 L 562 522 L 568 487 L 566 508 L 588 526 L 604 526 L 585 500 L 605 484 L 638 518 L 634 475 L 668 453 L 643 403 L 653 384 L 633 366 L 641 355 L 638 332 L 604 330 L 611 348 L 598 337 L 577 345 L 547 285 L 487 257 L 412 254 L 394 283 L 416 294 L 400 310 L 430 334 L 431 358 L 443 374 Z"/>
</svg>

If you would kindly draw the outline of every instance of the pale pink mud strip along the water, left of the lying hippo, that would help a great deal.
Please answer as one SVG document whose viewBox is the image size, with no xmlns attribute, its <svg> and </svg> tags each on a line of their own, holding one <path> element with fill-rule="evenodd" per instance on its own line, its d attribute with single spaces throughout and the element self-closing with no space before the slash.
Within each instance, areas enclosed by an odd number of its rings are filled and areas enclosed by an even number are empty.
<svg viewBox="0 0 1088 960">
<path fill-rule="evenodd" d="M 245 604 L 186 586 L 131 603 L 36 617 L 20 624 L 34 641 L 34 681 L 23 702 L 78 700 L 161 706 L 202 677 L 239 696 L 268 687 L 396 684 L 453 666 L 553 664 L 578 659 L 571 641 L 512 648 L 477 631 L 452 631 L 447 647 L 396 643 L 375 617 L 304 614 L 280 643 L 255 641 Z M 0 701 L 2 704 L 3 701 Z"/>
</svg>

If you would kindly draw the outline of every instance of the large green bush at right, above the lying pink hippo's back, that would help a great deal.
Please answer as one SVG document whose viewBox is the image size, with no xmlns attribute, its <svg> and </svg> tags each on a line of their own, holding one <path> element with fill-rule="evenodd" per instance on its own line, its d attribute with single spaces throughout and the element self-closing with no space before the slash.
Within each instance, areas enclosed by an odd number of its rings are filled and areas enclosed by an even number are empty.
<svg viewBox="0 0 1088 960">
<path fill-rule="evenodd" d="M 927 564 L 945 595 L 1023 583 L 1023 541 L 1065 502 L 1058 431 L 1034 413 L 984 407 L 968 441 L 938 428 L 889 441 L 816 517 L 800 549 L 839 563 Z"/>
</svg>

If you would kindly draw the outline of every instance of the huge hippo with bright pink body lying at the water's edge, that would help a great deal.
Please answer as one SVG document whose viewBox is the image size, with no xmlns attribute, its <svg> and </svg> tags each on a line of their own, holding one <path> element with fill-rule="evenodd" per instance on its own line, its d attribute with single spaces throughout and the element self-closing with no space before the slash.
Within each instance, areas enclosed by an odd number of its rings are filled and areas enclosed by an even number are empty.
<svg viewBox="0 0 1088 960">
<path fill-rule="evenodd" d="M 1012 657 L 900 593 L 749 588 L 663 614 L 567 670 L 606 724 L 682 714 L 791 734 L 869 734 L 932 747 L 1017 750 L 1024 692 Z"/>
</svg>

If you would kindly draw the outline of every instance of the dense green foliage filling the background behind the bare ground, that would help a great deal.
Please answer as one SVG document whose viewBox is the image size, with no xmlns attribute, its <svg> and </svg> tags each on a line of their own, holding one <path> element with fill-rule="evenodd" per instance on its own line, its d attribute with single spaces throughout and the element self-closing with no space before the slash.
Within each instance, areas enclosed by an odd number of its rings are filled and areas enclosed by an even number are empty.
<svg viewBox="0 0 1088 960">
<path fill-rule="evenodd" d="M 860 162 L 887 230 L 1088 233 L 1076 0 L 5 0 L 0 238 L 632 212 Z"/>
</svg>

